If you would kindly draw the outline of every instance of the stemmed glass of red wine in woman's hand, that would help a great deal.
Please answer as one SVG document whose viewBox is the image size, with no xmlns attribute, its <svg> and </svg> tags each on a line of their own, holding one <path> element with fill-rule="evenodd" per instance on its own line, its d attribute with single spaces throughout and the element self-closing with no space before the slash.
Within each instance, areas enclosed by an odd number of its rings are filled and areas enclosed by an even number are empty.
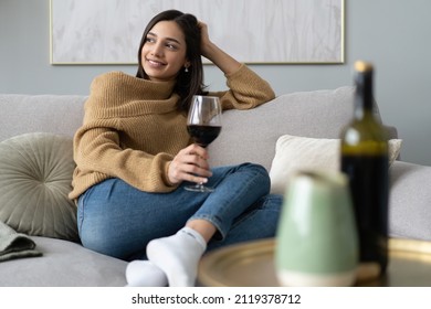
<svg viewBox="0 0 431 309">
<path fill-rule="evenodd" d="M 187 130 L 196 143 L 206 148 L 221 131 L 221 104 L 216 96 L 196 95 L 192 98 L 187 117 Z M 186 190 L 195 192 L 212 192 L 213 189 L 197 183 Z"/>
</svg>

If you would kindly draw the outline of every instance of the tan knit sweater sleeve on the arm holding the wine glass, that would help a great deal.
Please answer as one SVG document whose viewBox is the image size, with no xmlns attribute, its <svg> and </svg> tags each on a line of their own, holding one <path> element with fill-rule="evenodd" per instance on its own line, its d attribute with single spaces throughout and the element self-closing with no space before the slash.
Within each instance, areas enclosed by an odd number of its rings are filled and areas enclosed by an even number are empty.
<svg viewBox="0 0 431 309">
<path fill-rule="evenodd" d="M 83 175 L 81 179 L 90 177 L 91 182 L 98 182 L 97 178 L 119 178 L 147 192 L 169 192 L 176 188 L 167 179 L 170 154 L 122 149 L 118 135 L 109 120 L 81 127 L 74 138 L 74 159 Z"/>
</svg>

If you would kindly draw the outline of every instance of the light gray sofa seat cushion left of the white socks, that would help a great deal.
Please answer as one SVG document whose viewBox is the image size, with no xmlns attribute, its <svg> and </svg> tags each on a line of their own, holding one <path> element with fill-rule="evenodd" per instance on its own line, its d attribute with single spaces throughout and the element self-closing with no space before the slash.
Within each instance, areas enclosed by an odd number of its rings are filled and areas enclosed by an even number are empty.
<svg viewBox="0 0 431 309">
<path fill-rule="evenodd" d="M 31 236 L 41 257 L 0 263 L 2 287 L 123 287 L 127 262 L 80 244 Z"/>
</svg>

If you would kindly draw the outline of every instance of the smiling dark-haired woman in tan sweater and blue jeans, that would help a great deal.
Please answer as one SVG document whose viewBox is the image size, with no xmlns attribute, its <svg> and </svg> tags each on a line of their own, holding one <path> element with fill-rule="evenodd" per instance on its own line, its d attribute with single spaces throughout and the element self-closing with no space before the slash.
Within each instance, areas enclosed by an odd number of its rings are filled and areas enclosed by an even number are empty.
<svg viewBox="0 0 431 309">
<path fill-rule="evenodd" d="M 146 28 L 133 77 L 96 77 L 74 138 L 83 245 L 129 263 L 129 286 L 193 286 L 207 249 L 274 235 L 281 196 L 269 195 L 261 166 L 210 169 L 207 150 L 186 127 L 192 95 L 204 94 L 201 55 L 227 76 L 223 109 L 274 97 L 266 82 L 214 45 L 207 25 L 169 10 Z M 190 182 L 212 193 L 183 189 Z M 148 259 L 146 259 L 148 258 Z"/>
</svg>

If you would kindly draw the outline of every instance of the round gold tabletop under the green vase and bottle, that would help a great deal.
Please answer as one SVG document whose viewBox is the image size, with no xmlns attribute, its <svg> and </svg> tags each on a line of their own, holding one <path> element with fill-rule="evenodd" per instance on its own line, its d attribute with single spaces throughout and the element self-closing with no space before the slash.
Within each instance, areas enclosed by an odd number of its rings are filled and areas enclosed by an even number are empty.
<svg viewBox="0 0 431 309">
<path fill-rule="evenodd" d="M 202 286 L 275 287 L 274 239 L 262 239 L 213 251 L 203 256 L 198 274 Z M 431 287 L 431 242 L 389 239 L 389 265 L 380 278 L 357 286 Z"/>
</svg>

